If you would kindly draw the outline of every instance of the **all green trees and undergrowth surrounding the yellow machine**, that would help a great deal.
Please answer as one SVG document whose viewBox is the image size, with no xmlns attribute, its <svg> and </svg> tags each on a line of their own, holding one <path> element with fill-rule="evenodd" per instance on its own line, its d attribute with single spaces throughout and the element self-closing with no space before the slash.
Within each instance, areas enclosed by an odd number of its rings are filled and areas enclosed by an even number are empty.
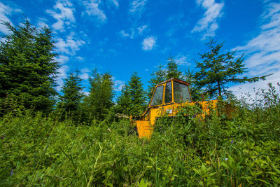
<svg viewBox="0 0 280 187">
<path fill-rule="evenodd" d="M 129 120 L 117 117 L 145 108 L 137 73 L 116 103 L 113 76 L 97 69 L 89 78 L 89 95 L 83 95 L 76 71 L 57 97 L 59 66 L 50 29 L 38 30 L 27 20 L 23 26 L 5 25 L 10 34 L 0 46 L 0 186 L 280 185 L 279 88 L 269 84 L 251 100 L 230 95 L 232 118 L 221 110 L 202 120 L 195 118 L 199 106 L 188 106 L 176 118 L 159 118 L 151 139 L 139 139 Z M 213 54 L 206 54 L 211 64 Z M 237 68 L 243 73 L 241 61 Z M 223 88 L 237 73 L 221 82 Z M 183 75 L 169 57 L 167 68 L 160 65 L 152 75 L 148 98 L 154 85 L 172 77 L 194 83 L 197 99 L 199 85 L 206 86 L 190 71 Z M 216 89 L 216 76 L 204 79 Z"/>
</svg>

